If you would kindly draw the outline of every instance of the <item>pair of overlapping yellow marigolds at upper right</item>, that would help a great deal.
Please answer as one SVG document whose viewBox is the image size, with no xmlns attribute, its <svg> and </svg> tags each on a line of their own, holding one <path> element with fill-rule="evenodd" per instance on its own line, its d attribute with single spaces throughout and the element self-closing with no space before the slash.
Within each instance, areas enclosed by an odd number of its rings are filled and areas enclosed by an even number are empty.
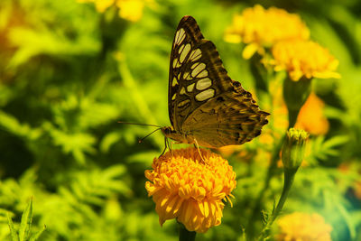
<svg viewBox="0 0 361 241">
<path fill-rule="evenodd" d="M 264 56 L 264 64 L 274 70 L 287 70 L 292 80 L 301 78 L 339 78 L 338 60 L 329 51 L 309 40 L 310 30 L 298 14 L 261 5 L 246 8 L 235 15 L 227 29 L 227 42 L 244 42 L 245 59 L 255 52 Z M 271 55 L 266 51 L 271 50 Z"/>
</svg>

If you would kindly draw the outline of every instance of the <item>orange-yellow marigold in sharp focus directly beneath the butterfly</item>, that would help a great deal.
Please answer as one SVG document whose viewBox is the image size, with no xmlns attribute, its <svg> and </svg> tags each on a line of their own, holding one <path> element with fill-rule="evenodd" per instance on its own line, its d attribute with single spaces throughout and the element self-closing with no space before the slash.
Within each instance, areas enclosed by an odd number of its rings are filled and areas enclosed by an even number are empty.
<svg viewBox="0 0 361 241">
<path fill-rule="evenodd" d="M 222 200 L 233 197 L 236 173 L 218 154 L 200 153 L 204 161 L 197 148 L 172 150 L 154 158 L 153 170 L 145 171 L 145 189 L 153 196 L 161 225 L 177 218 L 189 231 L 200 233 L 220 225 Z"/>
</svg>

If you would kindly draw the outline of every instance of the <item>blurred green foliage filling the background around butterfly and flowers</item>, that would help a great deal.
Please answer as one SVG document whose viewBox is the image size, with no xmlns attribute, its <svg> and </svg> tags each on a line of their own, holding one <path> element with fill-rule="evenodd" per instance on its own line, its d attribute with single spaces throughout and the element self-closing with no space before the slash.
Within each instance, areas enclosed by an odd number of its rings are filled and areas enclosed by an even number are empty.
<svg viewBox="0 0 361 241">
<path fill-rule="evenodd" d="M 47 226 L 40 240 L 177 240 L 176 222 L 160 227 L 144 189 L 143 172 L 162 152 L 162 134 L 138 144 L 153 128 L 117 121 L 169 125 L 169 54 L 186 14 L 218 46 L 231 78 L 255 89 L 243 46 L 223 37 L 233 14 L 256 3 L 300 14 L 311 38 L 340 61 L 342 75 L 313 81 L 327 104 L 330 129 L 311 137 L 309 165 L 297 173 L 283 212 L 318 212 L 333 227 L 333 240 L 360 240 L 355 193 L 361 181 L 361 2 L 356 0 L 153 0 L 143 2 L 135 22 L 119 17 L 116 7 L 99 13 L 95 5 L 75 0 L 2 0 L 0 239 L 9 238 L 6 212 L 18 224 L 33 197 L 33 231 Z M 260 97 L 259 104 L 267 107 L 267 98 Z M 264 154 L 244 162 L 236 153 L 245 150 Z M 260 227 L 261 209 L 251 218 L 250 207 L 262 188 L 267 151 L 256 138 L 228 157 L 238 179 L 235 206 L 227 205 L 222 225 L 198 240 L 242 240 L 247 223 Z M 261 208 L 272 209 L 281 189 L 282 169 Z"/>
</svg>

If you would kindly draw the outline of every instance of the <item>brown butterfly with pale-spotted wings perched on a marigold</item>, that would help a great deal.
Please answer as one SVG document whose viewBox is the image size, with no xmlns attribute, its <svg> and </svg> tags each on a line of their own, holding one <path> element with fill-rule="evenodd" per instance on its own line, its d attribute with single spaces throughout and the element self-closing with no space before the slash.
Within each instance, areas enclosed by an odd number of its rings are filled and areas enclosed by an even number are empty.
<svg viewBox="0 0 361 241">
<path fill-rule="evenodd" d="M 161 129 L 166 141 L 209 148 L 251 141 L 269 115 L 228 77 L 216 46 L 191 16 L 180 20 L 171 46 L 168 108 L 171 126 Z"/>
</svg>

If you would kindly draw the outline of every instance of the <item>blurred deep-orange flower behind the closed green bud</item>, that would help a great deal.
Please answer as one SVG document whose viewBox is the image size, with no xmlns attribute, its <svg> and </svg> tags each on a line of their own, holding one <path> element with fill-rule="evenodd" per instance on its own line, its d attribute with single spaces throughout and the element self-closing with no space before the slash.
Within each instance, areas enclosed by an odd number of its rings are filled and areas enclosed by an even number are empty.
<svg viewBox="0 0 361 241">
<path fill-rule="evenodd" d="M 327 134 L 329 131 L 329 121 L 323 114 L 325 103 L 311 92 L 300 114 L 297 117 L 295 127 L 303 129 L 310 134 Z"/>
</svg>

